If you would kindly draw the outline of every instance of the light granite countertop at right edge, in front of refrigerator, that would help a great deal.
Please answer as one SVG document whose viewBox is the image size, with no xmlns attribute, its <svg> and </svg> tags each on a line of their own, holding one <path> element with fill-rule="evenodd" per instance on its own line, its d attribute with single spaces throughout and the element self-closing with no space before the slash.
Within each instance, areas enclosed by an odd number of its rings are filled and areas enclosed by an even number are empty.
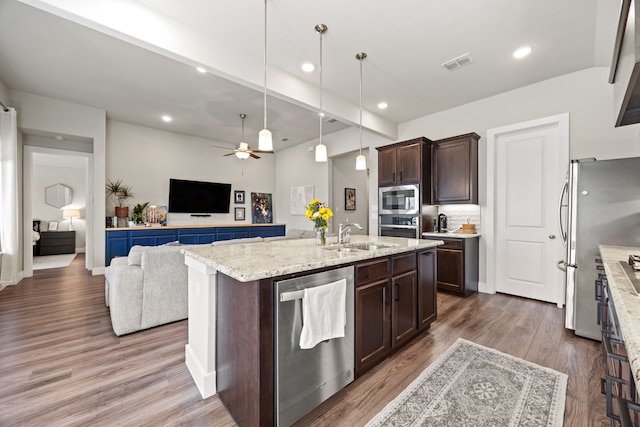
<svg viewBox="0 0 640 427">
<path fill-rule="evenodd" d="M 619 263 L 619 261 L 628 262 L 630 254 L 640 254 L 640 248 L 600 246 L 600 256 L 607 273 L 611 298 L 616 307 L 631 372 L 636 384 L 640 384 L 640 295 Z"/>
</svg>

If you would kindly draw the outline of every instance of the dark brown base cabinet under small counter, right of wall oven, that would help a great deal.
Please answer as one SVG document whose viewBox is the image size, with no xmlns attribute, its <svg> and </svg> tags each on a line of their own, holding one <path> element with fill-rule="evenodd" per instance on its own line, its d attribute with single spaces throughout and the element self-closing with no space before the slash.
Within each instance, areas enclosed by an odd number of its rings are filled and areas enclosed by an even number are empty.
<svg viewBox="0 0 640 427">
<path fill-rule="evenodd" d="M 478 291 L 478 238 L 438 237 L 438 290 L 469 296 Z"/>
</svg>

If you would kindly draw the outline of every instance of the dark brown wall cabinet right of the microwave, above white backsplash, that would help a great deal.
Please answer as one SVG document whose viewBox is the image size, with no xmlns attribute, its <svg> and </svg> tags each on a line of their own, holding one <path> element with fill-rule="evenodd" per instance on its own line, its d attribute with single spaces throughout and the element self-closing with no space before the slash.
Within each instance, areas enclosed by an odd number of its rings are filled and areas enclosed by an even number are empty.
<svg viewBox="0 0 640 427">
<path fill-rule="evenodd" d="M 433 142 L 433 204 L 478 203 L 478 139 L 475 133 Z"/>
</svg>

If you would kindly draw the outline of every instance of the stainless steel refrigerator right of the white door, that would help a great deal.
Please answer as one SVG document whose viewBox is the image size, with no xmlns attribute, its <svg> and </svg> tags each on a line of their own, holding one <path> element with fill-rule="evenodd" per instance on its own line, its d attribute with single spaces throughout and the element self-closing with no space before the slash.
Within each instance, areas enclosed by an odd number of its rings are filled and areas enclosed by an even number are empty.
<svg viewBox="0 0 640 427">
<path fill-rule="evenodd" d="M 640 247 L 640 157 L 572 160 L 560 202 L 567 247 L 565 326 L 601 340 L 595 279 L 599 245 Z"/>
</svg>

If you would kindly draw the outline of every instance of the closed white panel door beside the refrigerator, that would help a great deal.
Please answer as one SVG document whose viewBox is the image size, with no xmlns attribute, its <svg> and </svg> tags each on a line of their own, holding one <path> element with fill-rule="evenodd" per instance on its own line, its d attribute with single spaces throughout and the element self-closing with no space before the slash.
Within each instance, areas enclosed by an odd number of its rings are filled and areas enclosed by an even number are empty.
<svg viewBox="0 0 640 427">
<path fill-rule="evenodd" d="M 497 134 L 496 291 L 564 303 L 557 198 L 567 152 L 557 124 Z"/>
</svg>

